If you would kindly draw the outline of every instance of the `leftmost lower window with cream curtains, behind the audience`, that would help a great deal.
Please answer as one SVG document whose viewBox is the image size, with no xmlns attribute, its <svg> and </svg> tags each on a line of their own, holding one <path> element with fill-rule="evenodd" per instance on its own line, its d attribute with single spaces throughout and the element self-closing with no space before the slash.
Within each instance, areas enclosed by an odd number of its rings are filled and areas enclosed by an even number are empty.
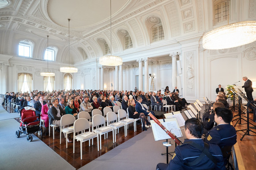
<svg viewBox="0 0 256 170">
<path fill-rule="evenodd" d="M 18 91 L 19 92 L 30 92 L 32 91 L 33 76 L 32 74 L 21 72 L 18 74 Z"/>
</svg>

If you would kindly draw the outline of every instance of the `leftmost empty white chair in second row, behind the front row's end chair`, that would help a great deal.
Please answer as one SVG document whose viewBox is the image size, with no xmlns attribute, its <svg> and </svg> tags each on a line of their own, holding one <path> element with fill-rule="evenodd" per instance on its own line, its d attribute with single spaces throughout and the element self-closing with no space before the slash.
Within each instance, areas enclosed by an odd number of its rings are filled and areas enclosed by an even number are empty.
<svg viewBox="0 0 256 170">
<path fill-rule="evenodd" d="M 64 133 L 64 136 L 66 137 L 66 148 L 68 148 L 68 134 L 71 134 L 74 131 L 73 126 L 72 127 L 65 127 L 68 125 L 71 125 L 75 122 L 75 116 L 71 114 L 66 114 L 61 116 L 60 118 L 60 144 L 61 144 L 61 134 Z M 65 128 L 64 128 L 65 127 Z"/>
</svg>

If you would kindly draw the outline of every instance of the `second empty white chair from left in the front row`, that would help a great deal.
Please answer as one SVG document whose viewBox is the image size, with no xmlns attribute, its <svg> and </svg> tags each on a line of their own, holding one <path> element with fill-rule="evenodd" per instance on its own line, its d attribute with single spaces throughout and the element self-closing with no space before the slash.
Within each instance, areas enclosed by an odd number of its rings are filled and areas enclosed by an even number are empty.
<svg viewBox="0 0 256 170">
<path fill-rule="evenodd" d="M 99 127 L 99 125 L 102 125 L 102 127 Z M 96 129 L 94 129 L 94 127 Z M 105 126 L 105 119 L 102 115 L 94 115 L 92 117 L 92 132 L 99 134 L 100 136 L 100 149 L 102 150 L 102 134 L 108 134 L 108 132 L 110 132 L 112 130 L 113 133 L 113 143 L 115 143 L 114 141 L 114 129 L 112 127 L 106 127 Z M 108 135 L 107 135 L 108 138 Z M 105 135 L 104 135 L 104 139 L 105 139 Z"/>
</svg>

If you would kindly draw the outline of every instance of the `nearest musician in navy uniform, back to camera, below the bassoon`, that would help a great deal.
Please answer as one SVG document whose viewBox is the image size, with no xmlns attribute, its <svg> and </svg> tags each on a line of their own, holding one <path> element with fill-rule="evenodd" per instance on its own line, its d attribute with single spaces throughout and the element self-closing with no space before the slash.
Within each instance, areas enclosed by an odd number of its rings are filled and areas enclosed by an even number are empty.
<svg viewBox="0 0 256 170">
<path fill-rule="evenodd" d="M 168 164 L 158 163 L 157 170 L 225 170 L 223 156 L 218 145 L 206 143 L 201 139 L 203 124 L 196 118 L 185 122 L 184 144 L 175 148 L 173 158 Z M 207 150 L 208 148 L 208 150 Z M 207 155 L 202 152 L 206 149 Z M 211 157 L 211 158 L 210 158 Z"/>
</svg>

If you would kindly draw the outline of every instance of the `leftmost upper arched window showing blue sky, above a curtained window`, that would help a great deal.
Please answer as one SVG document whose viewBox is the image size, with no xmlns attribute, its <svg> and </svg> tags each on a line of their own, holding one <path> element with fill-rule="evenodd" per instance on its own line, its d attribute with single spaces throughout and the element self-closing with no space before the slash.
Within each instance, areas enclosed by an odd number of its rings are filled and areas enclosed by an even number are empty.
<svg viewBox="0 0 256 170">
<path fill-rule="evenodd" d="M 30 40 L 22 40 L 19 42 L 19 56 L 32 57 L 34 44 Z"/>
</svg>

